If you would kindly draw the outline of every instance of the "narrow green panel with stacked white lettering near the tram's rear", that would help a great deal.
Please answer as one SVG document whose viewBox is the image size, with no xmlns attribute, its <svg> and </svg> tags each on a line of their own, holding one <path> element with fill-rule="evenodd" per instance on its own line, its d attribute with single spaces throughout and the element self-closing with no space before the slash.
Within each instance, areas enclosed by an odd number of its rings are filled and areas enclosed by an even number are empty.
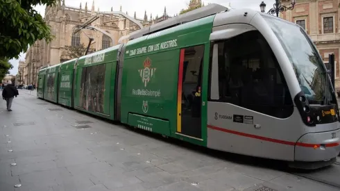
<svg viewBox="0 0 340 191">
<path fill-rule="evenodd" d="M 67 107 L 72 106 L 72 85 L 75 64 L 76 59 L 62 63 L 60 67 L 60 78 L 58 78 L 58 103 Z"/>
</svg>

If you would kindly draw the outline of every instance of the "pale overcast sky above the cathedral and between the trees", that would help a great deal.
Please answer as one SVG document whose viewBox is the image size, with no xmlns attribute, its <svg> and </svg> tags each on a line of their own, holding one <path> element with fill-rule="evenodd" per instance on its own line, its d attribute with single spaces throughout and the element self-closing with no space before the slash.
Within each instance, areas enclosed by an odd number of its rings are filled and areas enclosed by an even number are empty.
<svg viewBox="0 0 340 191">
<path fill-rule="evenodd" d="M 85 8 L 85 3 L 87 2 L 87 8 L 92 8 L 93 0 L 65 0 L 66 6 L 79 7 L 80 3 L 82 7 Z M 251 8 L 254 10 L 260 10 L 260 3 L 262 0 L 202 0 L 205 5 L 207 3 L 218 3 L 223 6 L 230 6 L 232 8 Z M 273 6 L 274 0 L 266 0 L 266 10 L 269 10 Z M 101 11 L 110 11 L 111 7 L 113 10 L 119 10 L 120 6 L 122 7 L 123 12 L 128 12 L 128 15 L 133 16 L 136 12 L 137 17 L 144 18 L 144 12 L 146 11 L 146 15 L 150 18 L 150 14 L 152 13 L 153 18 L 158 15 L 161 16 L 164 12 L 164 6 L 167 7 L 167 13 L 169 16 L 173 16 L 176 13 L 179 13 L 182 8 L 187 8 L 189 4 L 189 0 L 169 0 L 163 1 L 162 3 L 159 0 L 124 0 L 124 1 L 112 1 L 112 0 L 94 0 L 94 8 L 95 10 Z M 40 13 L 44 17 L 45 6 L 37 6 L 35 8 L 38 13 Z M 21 53 L 19 60 L 24 60 L 26 53 Z M 10 74 L 17 74 L 17 67 L 19 65 L 19 60 L 10 60 L 10 63 L 13 65 L 13 69 L 10 71 Z"/>
</svg>

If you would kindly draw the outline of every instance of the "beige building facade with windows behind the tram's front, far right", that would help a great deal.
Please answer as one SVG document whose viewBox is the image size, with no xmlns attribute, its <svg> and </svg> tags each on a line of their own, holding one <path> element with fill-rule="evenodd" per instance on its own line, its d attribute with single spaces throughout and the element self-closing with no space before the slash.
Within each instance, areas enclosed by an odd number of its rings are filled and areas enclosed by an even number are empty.
<svg viewBox="0 0 340 191">
<path fill-rule="evenodd" d="M 289 3 L 291 1 L 282 0 L 282 4 L 289 6 Z M 280 14 L 283 19 L 305 28 L 328 68 L 329 54 L 334 53 L 336 88 L 340 88 L 339 11 L 340 0 L 296 0 L 293 10 Z"/>
</svg>

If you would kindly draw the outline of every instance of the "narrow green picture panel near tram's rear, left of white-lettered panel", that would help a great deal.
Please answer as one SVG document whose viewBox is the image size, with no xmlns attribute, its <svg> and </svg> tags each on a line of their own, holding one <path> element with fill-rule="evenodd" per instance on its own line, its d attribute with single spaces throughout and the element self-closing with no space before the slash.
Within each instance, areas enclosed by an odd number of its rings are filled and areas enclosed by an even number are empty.
<svg viewBox="0 0 340 191">
<path fill-rule="evenodd" d="M 44 99 L 58 103 L 58 78 L 60 65 L 46 68 L 44 83 Z"/>
</svg>

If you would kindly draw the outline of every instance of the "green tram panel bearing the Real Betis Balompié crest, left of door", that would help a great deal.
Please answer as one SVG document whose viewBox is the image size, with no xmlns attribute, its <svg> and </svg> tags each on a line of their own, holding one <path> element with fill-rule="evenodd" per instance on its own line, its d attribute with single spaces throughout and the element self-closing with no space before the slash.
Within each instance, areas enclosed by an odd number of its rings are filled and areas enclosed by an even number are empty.
<svg viewBox="0 0 340 191">
<path fill-rule="evenodd" d="M 178 49 L 142 56 L 126 54 L 121 80 L 121 122 L 171 135 L 170 126 L 176 126 L 178 57 Z"/>
</svg>

